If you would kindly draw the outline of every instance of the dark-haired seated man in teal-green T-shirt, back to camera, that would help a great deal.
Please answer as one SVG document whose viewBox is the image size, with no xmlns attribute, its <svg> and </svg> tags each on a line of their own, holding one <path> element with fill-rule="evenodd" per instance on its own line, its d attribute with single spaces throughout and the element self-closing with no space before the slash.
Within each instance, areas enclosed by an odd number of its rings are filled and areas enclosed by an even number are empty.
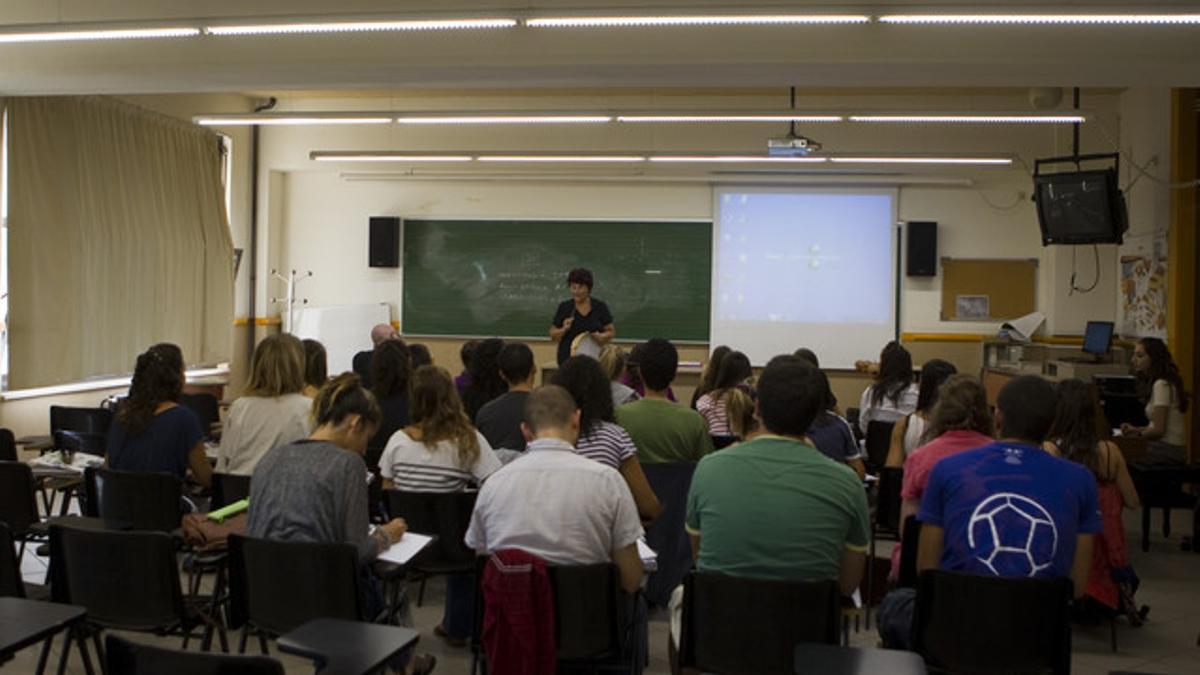
<svg viewBox="0 0 1200 675">
<path fill-rule="evenodd" d="M 773 359 L 757 394 L 764 434 L 696 465 L 686 516 L 696 568 L 754 579 L 838 580 L 850 595 L 863 578 L 870 542 L 866 492 L 853 471 L 804 441 L 826 405 L 820 371 L 792 357 Z M 682 595 L 680 589 L 671 602 L 672 644 Z"/>
</svg>

